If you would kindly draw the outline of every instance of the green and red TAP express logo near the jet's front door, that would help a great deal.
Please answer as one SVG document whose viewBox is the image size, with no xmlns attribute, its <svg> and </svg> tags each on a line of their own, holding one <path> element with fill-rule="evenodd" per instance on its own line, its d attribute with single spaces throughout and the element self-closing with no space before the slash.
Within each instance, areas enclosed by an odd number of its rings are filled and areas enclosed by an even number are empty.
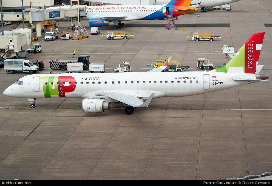
<svg viewBox="0 0 272 186">
<path fill-rule="evenodd" d="M 40 82 L 43 85 L 44 97 L 66 97 L 65 93 L 76 89 L 76 80 L 72 76 L 40 77 Z"/>
</svg>

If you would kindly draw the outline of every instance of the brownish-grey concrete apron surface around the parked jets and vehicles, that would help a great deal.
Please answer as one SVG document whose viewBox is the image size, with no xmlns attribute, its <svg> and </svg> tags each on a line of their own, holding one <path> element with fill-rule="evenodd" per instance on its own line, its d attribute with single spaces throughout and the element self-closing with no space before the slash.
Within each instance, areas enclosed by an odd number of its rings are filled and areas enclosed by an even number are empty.
<svg viewBox="0 0 272 186">
<path fill-rule="evenodd" d="M 261 2 L 272 8 L 272 1 Z M 272 77 L 272 28 L 265 26 L 271 26 L 272 14 L 261 2 L 242 0 L 232 3 L 231 11 L 179 16 L 176 24 L 191 27 L 175 31 L 152 27 L 166 20 L 125 22 L 129 26 L 121 31 L 135 34 L 126 40 L 89 35 L 88 21 L 82 21 L 89 38 L 39 39 L 42 53 L 27 54 L 27 59 L 45 63 L 41 74 L 49 73 L 52 59 L 75 59 L 73 49 L 77 56 L 88 54 L 91 63 L 106 63 L 106 72 L 124 61 L 131 62 L 133 72 L 147 71 L 149 60 L 169 56 L 190 66 L 186 71 L 197 71 L 199 57 L 221 66 L 228 60 L 215 50 L 233 44 L 238 51 L 252 33 L 265 32 L 259 64 L 264 65 L 261 73 Z M 58 24 L 60 33 L 69 28 L 69 22 Z M 186 37 L 191 32 L 215 32 L 221 38 L 195 42 Z M 272 171 L 271 81 L 177 100 L 153 99 L 148 108 L 126 115 L 122 106 L 86 113 L 81 100 L 71 98 L 37 99 L 31 109 L 27 99 L 2 94 L 25 75 L 0 69 L 1 180 L 214 180 Z"/>
</svg>

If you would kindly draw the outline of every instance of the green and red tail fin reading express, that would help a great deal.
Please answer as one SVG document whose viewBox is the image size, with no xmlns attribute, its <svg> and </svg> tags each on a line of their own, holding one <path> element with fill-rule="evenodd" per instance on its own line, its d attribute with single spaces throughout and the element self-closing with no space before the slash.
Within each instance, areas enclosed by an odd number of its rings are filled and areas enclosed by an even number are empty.
<svg viewBox="0 0 272 186">
<path fill-rule="evenodd" d="M 263 40 L 264 32 L 253 33 L 235 56 L 226 65 L 215 69 L 215 72 L 258 73 L 260 69 L 257 66 Z"/>
</svg>

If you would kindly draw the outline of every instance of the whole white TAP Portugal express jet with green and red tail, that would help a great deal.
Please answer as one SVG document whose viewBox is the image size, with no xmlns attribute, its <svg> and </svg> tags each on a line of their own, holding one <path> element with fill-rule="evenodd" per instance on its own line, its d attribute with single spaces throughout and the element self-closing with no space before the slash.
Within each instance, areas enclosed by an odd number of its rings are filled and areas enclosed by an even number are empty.
<svg viewBox="0 0 272 186">
<path fill-rule="evenodd" d="M 256 32 L 226 64 L 212 71 L 201 72 L 129 72 L 32 74 L 9 86 L 4 95 L 27 98 L 35 108 L 36 98 L 83 98 L 84 112 L 104 112 L 126 105 L 126 114 L 134 108 L 147 107 L 159 97 L 182 97 L 205 94 L 238 87 L 258 81 L 267 81 L 268 75 L 259 74 L 258 65 L 264 32 Z M 171 57 L 165 62 L 165 68 Z M 157 68 L 156 68 L 157 69 Z"/>
</svg>

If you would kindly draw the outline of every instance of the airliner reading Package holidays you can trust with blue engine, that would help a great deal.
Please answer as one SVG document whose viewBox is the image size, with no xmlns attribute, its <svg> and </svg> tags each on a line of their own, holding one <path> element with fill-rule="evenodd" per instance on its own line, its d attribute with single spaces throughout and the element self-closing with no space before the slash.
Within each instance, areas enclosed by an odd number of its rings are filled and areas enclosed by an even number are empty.
<svg viewBox="0 0 272 186">
<path fill-rule="evenodd" d="M 110 22 L 114 23 L 113 29 L 121 29 L 125 26 L 122 21 L 131 20 L 153 20 L 164 19 L 164 13 L 180 16 L 197 11 L 197 8 L 190 7 L 191 0 L 171 0 L 164 5 L 108 5 L 108 6 L 86 6 L 86 17 L 81 20 L 89 20 L 89 25 L 107 26 Z M 47 9 L 70 8 L 50 7 Z"/>
</svg>

